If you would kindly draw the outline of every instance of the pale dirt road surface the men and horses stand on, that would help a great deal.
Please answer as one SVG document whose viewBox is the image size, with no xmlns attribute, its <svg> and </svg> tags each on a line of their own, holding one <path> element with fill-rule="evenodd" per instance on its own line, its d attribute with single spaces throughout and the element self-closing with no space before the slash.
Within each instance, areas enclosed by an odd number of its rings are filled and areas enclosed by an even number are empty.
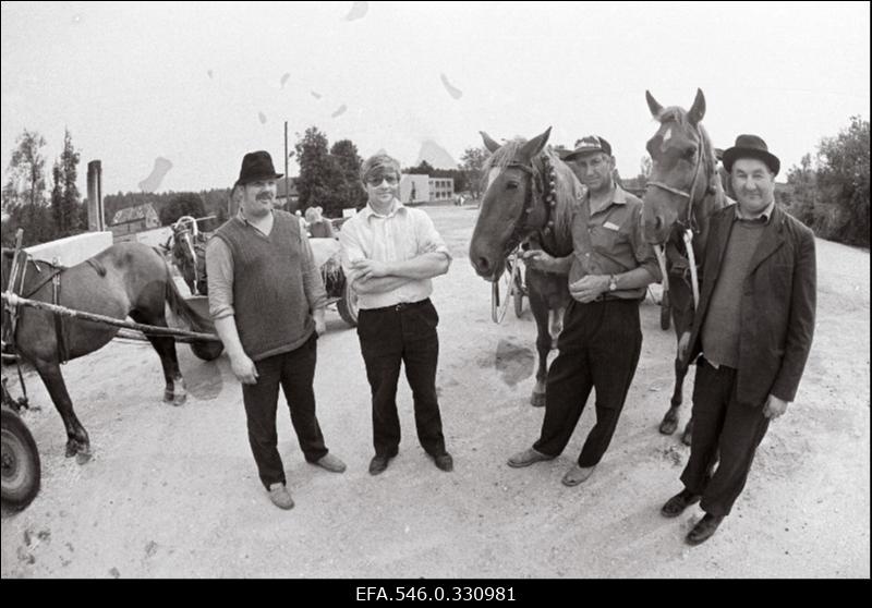
<svg viewBox="0 0 872 608">
<path fill-rule="evenodd" d="M 744 577 L 869 576 L 869 253 L 818 243 L 814 346 L 797 402 L 763 440 L 734 513 L 704 545 L 683 535 L 701 515 L 658 513 L 681 485 L 688 448 L 657 424 L 671 390 L 674 337 L 642 305 L 644 343 L 627 406 L 595 474 L 560 477 L 593 424 L 592 408 L 558 459 L 522 470 L 506 459 L 536 438 L 529 405 L 535 335 L 529 306 L 501 326 L 467 248 L 475 210 L 433 207 L 455 262 L 435 280 L 443 419 L 456 470 L 416 441 L 408 388 L 403 441 L 377 477 L 368 386 L 354 330 L 328 313 L 315 391 L 342 475 L 304 462 L 287 410 L 279 449 L 291 511 L 257 479 L 241 391 L 226 356 L 180 346 L 189 402 L 161 402 L 157 355 L 113 342 L 64 367 L 95 455 L 63 457 L 59 415 L 35 376 L 41 411 L 24 417 L 39 446 L 43 488 L 2 519 L 3 577 Z M 686 385 L 690 394 L 692 378 Z M 13 386 L 13 392 L 17 388 Z M 683 418 L 689 405 L 682 411 Z"/>
</svg>

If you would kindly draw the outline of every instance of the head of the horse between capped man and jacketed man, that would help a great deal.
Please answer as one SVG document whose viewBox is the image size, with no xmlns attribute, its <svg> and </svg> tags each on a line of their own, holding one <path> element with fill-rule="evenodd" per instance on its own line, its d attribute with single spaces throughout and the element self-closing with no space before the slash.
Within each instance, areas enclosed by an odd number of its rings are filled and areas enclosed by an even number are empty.
<svg viewBox="0 0 872 608">
<path fill-rule="evenodd" d="M 645 92 L 651 114 L 661 123 L 646 144 L 652 168 L 643 197 L 645 240 L 665 243 L 673 227 L 691 228 L 693 205 L 715 187 L 715 157 L 700 122 L 705 115 L 705 96 L 697 89 L 689 111 L 677 106 L 664 108 Z M 717 184 L 719 186 L 719 182 Z"/>
</svg>

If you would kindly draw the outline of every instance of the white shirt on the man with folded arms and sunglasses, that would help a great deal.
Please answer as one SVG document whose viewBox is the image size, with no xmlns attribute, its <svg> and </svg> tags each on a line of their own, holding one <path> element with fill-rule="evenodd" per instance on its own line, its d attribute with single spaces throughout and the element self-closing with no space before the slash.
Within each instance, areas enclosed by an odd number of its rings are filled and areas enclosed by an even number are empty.
<svg viewBox="0 0 872 608">
<path fill-rule="evenodd" d="M 360 259 L 405 262 L 426 253 L 438 252 L 451 260 L 445 241 L 433 220 L 421 209 L 412 209 L 393 199 L 387 215 L 377 214 L 368 204 L 342 224 L 339 231 L 342 245 L 342 269 L 348 281 L 358 273 L 351 265 Z M 433 293 L 431 279 L 409 279 L 385 293 L 359 293 L 358 306 L 364 309 L 421 302 Z"/>
</svg>

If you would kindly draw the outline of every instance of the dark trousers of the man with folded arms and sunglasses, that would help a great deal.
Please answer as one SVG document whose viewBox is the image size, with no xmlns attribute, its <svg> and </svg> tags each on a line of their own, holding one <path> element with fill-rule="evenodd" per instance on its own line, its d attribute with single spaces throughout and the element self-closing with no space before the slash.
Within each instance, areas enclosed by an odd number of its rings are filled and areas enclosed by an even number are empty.
<svg viewBox="0 0 872 608">
<path fill-rule="evenodd" d="M 439 315 L 429 299 L 362 309 L 358 316 L 358 337 L 373 394 L 373 445 L 377 455 L 393 457 L 399 450 L 397 381 L 400 364 L 405 366 L 405 378 L 412 389 L 417 439 L 428 454 L 445 453 L 436 398 L 438 324 Z"/>
</svg>

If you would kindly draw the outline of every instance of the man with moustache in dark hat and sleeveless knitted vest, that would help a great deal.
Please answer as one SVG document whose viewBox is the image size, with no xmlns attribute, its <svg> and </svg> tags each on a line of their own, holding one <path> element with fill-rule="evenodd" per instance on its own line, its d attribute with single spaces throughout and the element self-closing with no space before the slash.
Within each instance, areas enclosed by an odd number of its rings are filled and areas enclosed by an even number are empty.
<svg viewBox="0 0 872 608">
<path fill-rule="evenodd" d="M 209 312 L 242 382 L 249 442 L 270 500 L 291 509 L 276 434 L 279 385 L 305 459 L 335 473 L 315 415 L 316 339 L 324 332 L 327 294 L 298 219 L 274 209 L 276 179 L 266 151 L 246 154 L 234 191 L 238 214 L 206 247 Z"/>
</svg>

